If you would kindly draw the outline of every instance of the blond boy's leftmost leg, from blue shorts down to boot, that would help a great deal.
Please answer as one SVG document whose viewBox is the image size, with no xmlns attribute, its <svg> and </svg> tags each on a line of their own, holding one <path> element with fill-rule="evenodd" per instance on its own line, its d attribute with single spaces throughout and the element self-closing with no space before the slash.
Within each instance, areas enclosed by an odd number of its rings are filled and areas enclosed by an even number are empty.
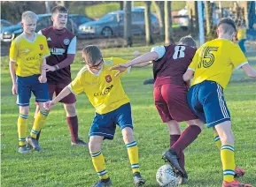
<svg viewBox="0 0 256 187">
<path fill-rule="evenodd" d="M 29 100 L 31 97 L 31 90 L 29 88 L 29 78 L 17 77 L 18 96 L 17 105 L 19 106 L 18 117 L 18 135 L 19 135 L 19 153 L 28 153 L 29 150 L 26 146 L 27 136 L 27 118 L 29 111 Z"/>
</svg>

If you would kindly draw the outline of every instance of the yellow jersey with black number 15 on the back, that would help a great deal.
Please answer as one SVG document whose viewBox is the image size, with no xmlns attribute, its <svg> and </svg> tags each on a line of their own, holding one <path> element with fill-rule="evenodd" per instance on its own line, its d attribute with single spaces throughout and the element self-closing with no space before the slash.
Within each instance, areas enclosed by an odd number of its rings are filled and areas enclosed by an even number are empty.
<svg viewBox="0 0 256 187">
<path fill-rule="evenodd" d="M 215 39 L 201 46 L 188 68 L 195 71 L 191 86 L 212 80 L 223 89 L 229 84 L 232 71 L 248 64 L 240 47 L 226 39 Z"/>
</svg>

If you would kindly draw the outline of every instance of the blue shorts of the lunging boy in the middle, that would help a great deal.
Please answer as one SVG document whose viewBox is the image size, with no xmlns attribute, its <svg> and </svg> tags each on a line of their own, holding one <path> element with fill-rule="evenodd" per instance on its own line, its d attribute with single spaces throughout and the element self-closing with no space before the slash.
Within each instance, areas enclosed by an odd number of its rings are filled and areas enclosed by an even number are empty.
<svg viewBox="0 0 256 187">
<path fill-rule="evenodd" d="M 120 130 L 126 127 L 133 129 L 130 103 L 104 115 L 96 113 L 89 130 L 89 137 L 102 136 L 106 139 L 113 139 L 116 124 L 120 126 Z"/>
</svg>

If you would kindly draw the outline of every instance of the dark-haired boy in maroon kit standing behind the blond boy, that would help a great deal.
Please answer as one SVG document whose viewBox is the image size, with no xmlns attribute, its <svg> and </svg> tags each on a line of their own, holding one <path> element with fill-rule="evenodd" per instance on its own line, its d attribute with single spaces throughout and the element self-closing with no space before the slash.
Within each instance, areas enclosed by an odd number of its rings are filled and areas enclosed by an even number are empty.
<svg viewBox="0 0 256 187">
<path fill-rule="evenodd" d="M 69 83 L 71 83 L 70 64 L 74 62 L 76 52 L 76 36 L 66 29 L 68 11 L 63 6 L 55 6 L 51 11 L 53 26 L 44 28 L 38 34 L 43 34 L 48 42 L 50 56 L 46 59 L 47 81 L 50 99 L 53 94 L 58 95 Z M 66 110 L 66 122 L 71 133 L 72 146 L 88 146 L 78 138 L 78 119 L 75 108 L 75 96 L 73 93 L 67 95 L 63 100 Z M 37 114 L 38 106 L 35 114 Z M 37 139 L 39 136 L 37 137 Z"/>
</svg>

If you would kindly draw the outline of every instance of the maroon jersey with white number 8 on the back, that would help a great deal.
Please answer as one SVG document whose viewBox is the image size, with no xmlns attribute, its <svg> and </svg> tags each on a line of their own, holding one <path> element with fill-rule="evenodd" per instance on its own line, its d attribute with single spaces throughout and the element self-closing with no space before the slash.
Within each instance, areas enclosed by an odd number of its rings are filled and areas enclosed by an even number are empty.
<svg viewBox="0 0 256 187">
<path fill-rule="evenodd" d="M 165 46 L 165 49 L 165 55 L 153 61 L 154 86 L 186 86 L 182 75 L 187 71 L 196 49 L 183 45 L 169 45 Z"/>
</svg>

